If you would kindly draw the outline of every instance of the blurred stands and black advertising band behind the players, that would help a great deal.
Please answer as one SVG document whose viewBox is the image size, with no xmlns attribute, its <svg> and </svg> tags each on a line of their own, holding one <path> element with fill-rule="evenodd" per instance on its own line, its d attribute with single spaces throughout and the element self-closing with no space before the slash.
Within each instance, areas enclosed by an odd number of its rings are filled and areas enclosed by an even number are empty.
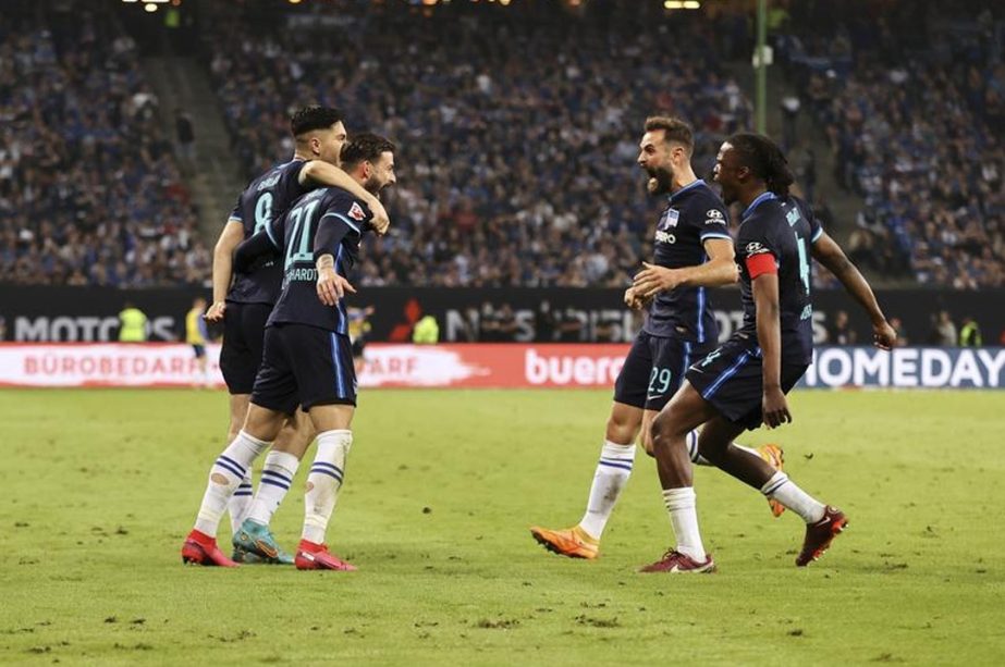
<svg viewBox="0 0 1005 667">
<path fill-rule="evenodd" d="M 126 302 L 181 339 L 235 197 L 322 103 L 400 149 L 369 341 L 630 341 L 662 206 L 637 143 L 674 114 L 699 176 L 730 133 L 777 140 L 906 344 L 1002 345 L 1003 46 L 990 0 L 5 0 L 0 339 L 118 341 Z M 818 344 L 869 343 L 814 293 Z"/>
</svg>

